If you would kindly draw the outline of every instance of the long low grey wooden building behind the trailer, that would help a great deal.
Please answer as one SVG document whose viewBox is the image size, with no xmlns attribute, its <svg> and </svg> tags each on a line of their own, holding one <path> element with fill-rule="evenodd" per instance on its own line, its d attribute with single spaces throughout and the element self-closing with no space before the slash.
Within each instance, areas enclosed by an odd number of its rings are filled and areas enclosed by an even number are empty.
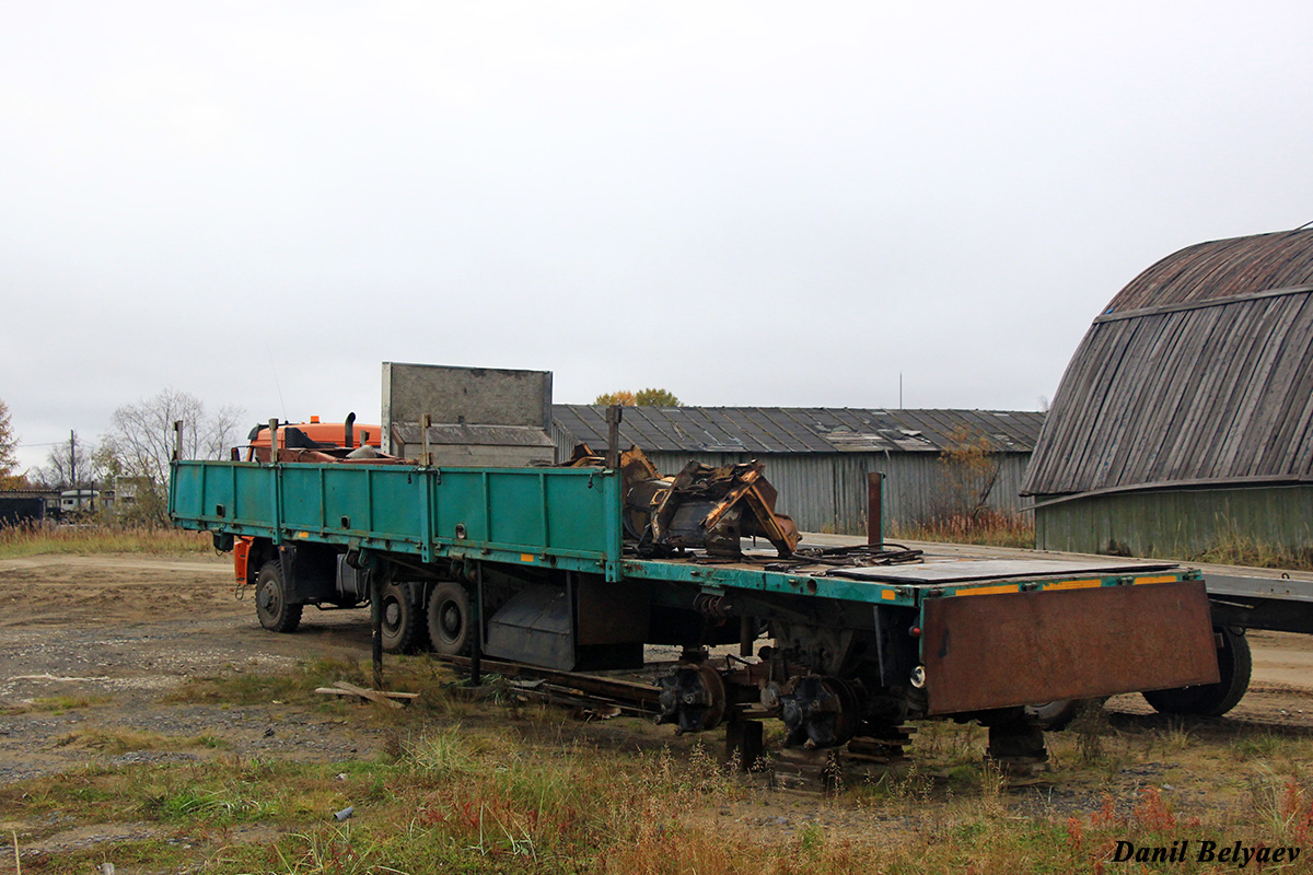
<svg viewBox="0 0 1313 875">
<path fill-rule="evenodd" d="M 558 459 L 575 443 L 607 446 L 607 408 L 554 404 Z M 689 460 L 751 459 L 780 493 L 777 508 L 807 531 L 867 533 L 867 474 L 885 475 L 885 523 L 915 525 L 951 501 L 943 451 L 960 436 L 983 439 L 997 466 L 987 506 L 1020 510 L 1018 493 L 1044 415 L 1032 411 L 886 411 L 817 407 L 626 407 L 624 446 L 637 445 L 662 474 Z"/>
</svg>

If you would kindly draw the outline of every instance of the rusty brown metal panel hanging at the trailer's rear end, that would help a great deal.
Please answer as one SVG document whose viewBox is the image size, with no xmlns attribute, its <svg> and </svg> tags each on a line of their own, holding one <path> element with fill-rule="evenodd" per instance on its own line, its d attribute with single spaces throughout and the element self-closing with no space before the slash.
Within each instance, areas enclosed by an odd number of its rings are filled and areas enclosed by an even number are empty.
<svg viewBox="0 0 1313 875">
<path fill-rule="evenodd" d="M 930 714 L 1216 683 L 1201 581 L 930 598 Z"/>
</svg>

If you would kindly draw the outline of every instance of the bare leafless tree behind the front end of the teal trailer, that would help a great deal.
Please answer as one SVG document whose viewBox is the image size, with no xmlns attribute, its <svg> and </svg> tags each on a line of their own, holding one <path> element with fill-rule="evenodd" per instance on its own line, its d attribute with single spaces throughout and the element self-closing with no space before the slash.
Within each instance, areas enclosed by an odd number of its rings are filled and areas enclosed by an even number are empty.
<svg viewBox="0 0 1313 875">
<path fill-rule="evenodd" d="M 244 412 L 222 407 L 210 416 L 201 399 L 173 388 L 114 411 L 109 433 L 97 451 L 114 474 L 117 509 L 135 522 L 168 522 L 168 463 L 173 457 L 173 422 L 183 421 L 184 459 L 221 459 L 240 434 Z"/>
</svg>

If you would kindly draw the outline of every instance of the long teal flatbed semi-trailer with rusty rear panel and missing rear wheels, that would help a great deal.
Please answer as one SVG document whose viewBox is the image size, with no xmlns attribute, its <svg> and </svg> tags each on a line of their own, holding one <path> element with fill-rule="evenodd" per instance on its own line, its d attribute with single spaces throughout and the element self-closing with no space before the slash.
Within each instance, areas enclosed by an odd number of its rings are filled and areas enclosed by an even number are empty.
<svg viewBox="0 0 1313 875">
<path fill-rule="evenodd" d="M 169 512 L 239 540 L 261 622 L 373 603 L 389 649 L 428 643 L 565 670 L 685 659 L 663 722 L 712 728 L 751 702 L 789 741 L 846 743 L 924 716 L 979 719 L 1043 752 L 1035 706 L 1218 683 L 1196 571 L 1171 563 L 902 561 L 850 551 L 635 548 L 617 467 L 173 463 Z M 632 527 L 632 525 L 630 525 Z M 751 653 L 760 639 L 769 639 Z M 427 640 L 425 640 L 427 639 Z M 744 656 L 716 670 L 706 647 Z M 1020 741 L 1019 741 L 1020 740 Z"/>
</svg>

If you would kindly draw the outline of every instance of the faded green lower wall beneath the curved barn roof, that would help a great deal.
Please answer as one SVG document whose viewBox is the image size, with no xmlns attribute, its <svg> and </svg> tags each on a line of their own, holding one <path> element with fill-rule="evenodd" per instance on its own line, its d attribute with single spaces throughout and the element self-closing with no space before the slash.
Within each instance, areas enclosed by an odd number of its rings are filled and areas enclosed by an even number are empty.
<svg viewBox="0 0 1313 875">
<path fill-rule="evenodd" d="M 1161 489 L 1073 499 L 1035 509 L 1041 550 L 1197 556 L 1241 540 L 1313 550 L 1313 485 Z"/>
</svg>

